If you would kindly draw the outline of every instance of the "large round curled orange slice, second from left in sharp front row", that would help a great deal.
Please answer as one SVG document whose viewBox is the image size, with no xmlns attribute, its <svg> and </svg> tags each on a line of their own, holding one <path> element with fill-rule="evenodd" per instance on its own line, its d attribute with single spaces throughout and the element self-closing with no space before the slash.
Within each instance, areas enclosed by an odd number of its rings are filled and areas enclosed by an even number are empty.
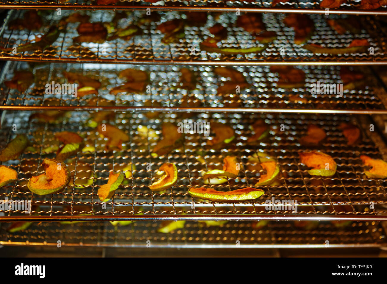
<svg viewBox="0 0 387 284">
<path fill-rule="evenodd" d="M 66 165 L 48 158 L 43 160 L 42 165 L 45 173 L 30 178 L 28 189 L 38 195 L 58 193 L 65 189 L 70 181 L 70 171 Z"/>
</svg>

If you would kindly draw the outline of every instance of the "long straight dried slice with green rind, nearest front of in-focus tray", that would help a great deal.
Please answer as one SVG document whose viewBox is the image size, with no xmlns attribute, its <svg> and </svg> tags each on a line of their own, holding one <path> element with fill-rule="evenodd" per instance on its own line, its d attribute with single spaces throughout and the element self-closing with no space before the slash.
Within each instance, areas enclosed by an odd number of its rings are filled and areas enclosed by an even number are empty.
<svg viewBox="0 0 387 284">
<path fill-rule="evenodd" d="M 214 202 L 235 202 L 235 201 L 245 201 L 251 200 L 260 197 L 265 192 L 261 189 L 246 187 L 236 190 L 231 190 L 228 192 L 217 191 L 212 188 L 195 188 L 191 187 L 188 190 L 188 193 L 192 197 L 201 198 L 204 200 L 210 200 Z"/>
</svg>

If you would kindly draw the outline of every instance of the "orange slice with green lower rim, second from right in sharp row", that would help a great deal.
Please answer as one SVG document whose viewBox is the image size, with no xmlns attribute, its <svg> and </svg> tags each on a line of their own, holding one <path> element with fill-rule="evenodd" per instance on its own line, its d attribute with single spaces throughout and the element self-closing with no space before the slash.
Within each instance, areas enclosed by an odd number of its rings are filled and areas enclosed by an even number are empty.
<svg viewBox="0 0 387 284">
<path fill-rule="evenodd" d="M 331 156 L 317 151 L 299 153 L 301 163 L 309 168 L 312 176 L 333 176 L 336 173 L 336 162 Z"/>
</svg>

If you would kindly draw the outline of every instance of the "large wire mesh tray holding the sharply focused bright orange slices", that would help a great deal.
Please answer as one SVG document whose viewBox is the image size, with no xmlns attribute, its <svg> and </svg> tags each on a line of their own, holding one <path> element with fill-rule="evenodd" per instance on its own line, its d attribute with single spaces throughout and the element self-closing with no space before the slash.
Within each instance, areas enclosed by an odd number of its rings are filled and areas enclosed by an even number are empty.
<svg viewBox="0 0 387 284">
<path fill-rule="evenodd" d="M 341 122 L 351 121 L 351 117 L 200 113 L 188 118 L 188 121 L 209 121 L 210 128 L 214 121 L 226 123 L 235 130 L 236 139 L 226 145 L 226 148 L 216 151 L 206 147 L 209 137 L 200 133 L 184 133 L 182 147 L 174 149 L 168 155 L 155 158 L 151 155 L 156 144 L 156 140 L 152 138 L 154 135 L 149 136 L 151 132 L 147 132 L 148 136 L 144 138 L 140 135 L 139 128 L 147 127 L 150 131 L 154 130 L 156 134 L 160 134 L 163 121 L 176 124 L 182 121 L 178 113 L 159 114 L 158 118 L 152 119 L 147 118 L 144 113 L 116 113 L 116 120 L 110 123 L 122 128 L 130 136 L 130 141 L 123 146 L 122 151 L 114 152 L 105 150 L 106 139 L 99 137 L 96 130 L 89 126 L 89 120 L 92 120 L 94 114 L 68 112 L 63 114 L 63 121 L 55 124 L 29 121 L 29 115 L 28 111 L 7 111 L 4 115 L 6 122 L 2 127 L 2 147 L 14 137 L 12 130 L 15 126 L 17 133 L 28 135 L 34 147 L 22 154 L 19 161 L 5 163 L 17 170 L 18 181 L 4 186 L 0 198 L 31 200 L 33 206 L 30 214 L 25 214 L 23 210 L 3 210 L 6 216 L 14 219 L 26 215 L 33 217 L 35 214 L 47 219 L 77 214 L 100 215 L 110 219 L 117 216 L 134 219 L 139 217 L 135 214 L 144 214 L 156 219 L 162 219 L 164 215 L 183 216 L 181 214 L 193 216 L 194 219 L 202 215 L 214 218 L 220 217 L 217 215 L 251 215 L 252 218 L 260 219 L 259 216 L 262 215 L 309 214 L 318 219 L 325 214 L 376 216 L 386 212 L 383 209 L 387 202 L 386 181 L 367 178 L 359 158 L 361 154 L 373 158 L 382 157 L 384 151 L 379 151 L 373 144 L 367 129 L 363 129 L 363 140 L 360 144 L 346 145 L 338 127 Z M 271 135 L 259 145 L 251 146 L 246 142 L 247 137 L 252 135 L 249 126 L 258 118 L 265 119 L 271 125 Z M 300 163 L 298 152 L 307 149 L 299 144 L 298 139 L 306 135 L 310 124 L 319 125 L 327 133 L 327 140 L 320 147 L 313 149 L 326 152 L 337 162 L 337 173 L 330 178 L 309 176 L 308 168 Z M 284 131 L 280 131 L 281 127 L 284 127 Z M 55 154 L 50 154 L 47 149 L 58 143 L 53 133 L 63 130 L 80 133 L 85 137 L 86 146 L 95 147 L 95 151 L 81 152 L 65 162 L 71 170 L 72 180 L 63 192 L 45 196 L 32 194 L 27 189 L 27 181 L 31 176 L 43 173 L 40 165 L 43 157 L 55 157 Z M 277 157 L 281 168 L 280 184 L 263 186 L 265 194 L 259 199 L 224 204 L 194 200 L 188 195 L 190 186 L 203 185 L 202 172 L 211 166 L 221 166 L 223 157 L 229 154 L 240 159 L 243 170 L 237 178 L 229 179 L 226 184 L 211 187 L 228 191 L 255 185 L 263 171 L 257 169 L 257 162 L 249 161 L 248 158 L 257 151 Z M 176 164 L 178 183 L 165 192 L 152 192 L 149 185 L 158 179 L 156 172 L 161 164 L 167 161 Z M 122 169 L 127 165 L 130 165 L 132 176 L 119 186 L 114 197 L 104 205 L 97 196 L 99 186 L 107 182 L 110 171 Z M 294 210 L 288 207 L 283 210 L 267 209 L 265 202 L 272 198 L 293 200 L 299 205 L 296 214 L 292 214 Z"/>
</svg>

